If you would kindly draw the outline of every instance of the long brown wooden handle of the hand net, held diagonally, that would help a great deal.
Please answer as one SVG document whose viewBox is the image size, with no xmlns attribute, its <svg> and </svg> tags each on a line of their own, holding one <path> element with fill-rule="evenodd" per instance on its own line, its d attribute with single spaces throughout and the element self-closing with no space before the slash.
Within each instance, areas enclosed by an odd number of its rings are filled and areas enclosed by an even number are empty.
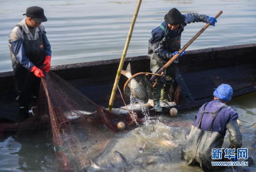
<svg viewBox="0 0 256 172">
<path fill-rule="evenodd" d="M 216 16 L 215 16 L 215 19 L 217 19 L 221 14 L 222 14 L 222 11 L 220 11 L 219 13 L 217 13 Z M 195 36 L 194 36 L 193 38 L 191 38 L 191 39 L 189 40 L 189 42 L 188 42 L 185 46 L 182 47 L 182 49 L 179 51 L 179 53 L 175 54 L 164 66 L 162 66 L 161 69 L 159 69 L 159 71 L 157 72 L 157 74 L 162 73 L 162 71 L 164 71 L 168 66 L 170 66 L 170 65 L 182 54 L 182 52 L 183 52 L 185 49 L 187 49 L 187 48 L 190 46 L 190 44 L 192 44 L 192 42 L 194 42 L 194 40 L 195 40 L 199 35 L 201 35 L 201 33 L 203 33 L 203 31 L 204 31 L 205 29 L 207 29 L 208 26 L 210 26 L 209 23 L 207 23 L 205 26 L 203 26 L 202 29 L 201 29 L 198 33 L 196 33 Z M 151 82 L 155 81 L 155 79 L 156 79 L 157 77 L 158 77 L 157 75 L 152 76 L 151 79 L 150 79 Z"/>
</svg>

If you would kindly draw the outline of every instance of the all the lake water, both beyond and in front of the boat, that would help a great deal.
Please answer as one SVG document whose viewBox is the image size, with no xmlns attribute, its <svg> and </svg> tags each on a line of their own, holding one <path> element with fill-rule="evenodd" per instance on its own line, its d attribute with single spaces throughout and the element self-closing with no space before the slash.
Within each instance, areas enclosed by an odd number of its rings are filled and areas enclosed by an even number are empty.
<svg viewBox="0 0 256 172">
<path fill-rule="evenodd" d="M 137 5 L 137 0 L 34 0 L 33 3 L 31 2 L 31 0 L 0 1 L 0 72 L 12 70 L 8 34 L 13 26 L 24 18 L 22 14 L 26 12 L 27 7 L 44 8 L 48 21 L 43 25 L 52 46 L 52 65 L 61 65 L 121 58 Z M 215 16 L 219 11 L 223 11 L 217 19 L 216 26 L 209 26 L 187 50 L 256 43 L 255 0 L 142 0 L 127 57 L 147 54 L 151 30 L 162 23 L 163 16 L 172 7 L 176 7 L 182 13 L 197 12 L 209 16 Z M 204 23 L 192 23 L 186 26 L 182 33 L 182 46 L 204 25 Z M 254 127 L 256 93 L 234 98 L 229 105 L 239 113 L 242 121 L 243 147 L 248 148 L 249 155 L 256 158 Z M 190 125 L 187 123 L 192 124 L 197 110 L 198 108 L 179 112 L 175 118 L 162 115 L 123 137 L 117 136 L 116 145 L 110 152 L 118 150 L 131 162 L 132 158 L 138 159 L 139 156 L 135 145 L 146 141 L 146 151 L 155 155 L 157 162 L 148 166 L 148 171 L 200 172 L 199 167 L 186 166 L 180 159 L 180 149 L 185 141 L 184 135 L 190 130 Z M 175 126 L 177 124 L 175 122 L 179 121 L 184 125 Z M 155 132 L 152 132 L 152 125 L 155 126 Z M 165 133 L 172 135 L 172 138 Z M 178 147 L 159 145 L 159 139 L 170 139 Z M 226 137 L 224 145 L 228 144 Z M 106 159 L 113 159 L 113 154 L 103 155 Z M 167 156 L 171 161 L 161 158 L 162 155 Z M 101 160 L 99 163 L 105 162 Z M 256 171 L 255 165 L 251 170 Z M 43 131 L 21 137 L 9 134 L 0 138 L 0 172 L 6 171 L 57 171 L 51 133 Z M 229 169 L 229 171 L 234 170 Z"/>
</svg>

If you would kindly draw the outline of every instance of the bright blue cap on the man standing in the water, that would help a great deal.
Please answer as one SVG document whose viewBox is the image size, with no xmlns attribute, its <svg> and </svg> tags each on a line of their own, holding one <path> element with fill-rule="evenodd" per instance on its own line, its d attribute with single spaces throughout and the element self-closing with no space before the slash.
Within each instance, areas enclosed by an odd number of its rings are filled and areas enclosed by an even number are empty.
<svg viewBox="0 0 256 172">
<path fill-rule="evenodd" d="M 233 94 L 233 89 L 228 84 L 222 84 L 216 88 L 213 95 L 223 101 L 230 101 Z"/>
</svg>

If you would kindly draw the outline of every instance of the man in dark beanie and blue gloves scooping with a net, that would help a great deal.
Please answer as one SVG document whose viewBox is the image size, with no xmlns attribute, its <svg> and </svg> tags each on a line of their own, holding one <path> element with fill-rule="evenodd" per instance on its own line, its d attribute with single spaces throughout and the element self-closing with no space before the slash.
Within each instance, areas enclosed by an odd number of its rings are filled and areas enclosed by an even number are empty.
<svg viewBox="0 0 256 172">
<path fill-rule="evenodd" d="M 152 30 L 152 38 L 148 41 L 148 56 L 150 57 L 150 70 L 152 73 L 159 71 L 181 49 L 181 34 L 188 23 L 205 22 L 215 26 L 215 22 L 217 22 L 214 17 L 207 15 L 198 13 L 181 14 L 176 8 L 172 8 L 164 16 L 164 20 L 160 26 Z M 165 77 L 160 77 L 153 89 L 155 112 L 162 112 L 161 102 L 167 103 L 169 106 L 176 105 L 173 101 L 177 87 L 175 81 L 177 65 L 178 59 L 163 71 Z M 170 89 L 171 93 L 168 96 Z"/>
</svg>

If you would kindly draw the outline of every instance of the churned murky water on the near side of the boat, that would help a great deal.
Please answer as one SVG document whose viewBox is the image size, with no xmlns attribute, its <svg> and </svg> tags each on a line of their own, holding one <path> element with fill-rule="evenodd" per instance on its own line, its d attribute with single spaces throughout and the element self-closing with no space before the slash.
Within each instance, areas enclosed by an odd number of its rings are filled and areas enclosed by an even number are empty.
<svg viewBox="0 0 256 172">
<path fill-rule="evenodd" d="M 254 158 L 256 158 L 255 103 L 256 92 L 233 98 L 228 104 L 239 113 L 240 131 L 243 135 L 242 148 L 247 148 L 249 156 Z M 189 133 L 197 111 L 198 108 L 195 108 L 178 112 L 176 116 L 159 115 L 152 117 L 150 121 L 144 121 L 134 130 L 116 134 L 111 149 L 105 150 L 95 162 L 104 166 L 109 159 L 116 165 L 113 152 L 119 151 L 129 164 L 126 165 L 125 172 L 202 172 L 199 166 L 188 166 L 181 160 L 181 147 L 186 142 L 185 135 Z M 141 147 L 145 143 L 145 151 L 138 152 L 136 146 Z M 229 136 L 226 135 L 223 147 L 226 148 L 229 144 Z M 149 158 L 153 159 L 151 164 L 140 165 Z M 51 132 L 47 130 L 30 134 L 6 134 L 5 137 L 0 138 L 0 172 L 57 172 L 56 165 Z M 115 168 L 112 170 L 120 171 Z M 255 172 L 256 165 L 249 167 L 249 170 Z M 97 170 L 88 169 L 88 172 L 94 171 Z M 220 172 L 242 171 L 241 168 L 229 167 Z"/>
</svg>

